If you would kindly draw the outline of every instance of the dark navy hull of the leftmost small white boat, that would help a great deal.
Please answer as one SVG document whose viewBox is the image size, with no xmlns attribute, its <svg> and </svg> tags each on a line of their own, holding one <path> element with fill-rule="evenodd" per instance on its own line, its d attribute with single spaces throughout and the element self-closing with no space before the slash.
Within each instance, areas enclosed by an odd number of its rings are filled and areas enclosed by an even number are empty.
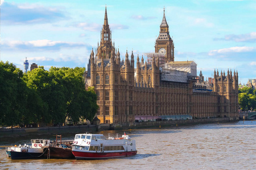
<svg viewBox="0 0 256 170">
<path fill-rule="evenodd" d="M 8 152 L 8 153 L 7 153 Z M 11 159 L 40 159 L 42 158 L 42 152 L 16 152 L 16 151 L 6 151 L 6 153 L 11 155 Z"/>
</svg>

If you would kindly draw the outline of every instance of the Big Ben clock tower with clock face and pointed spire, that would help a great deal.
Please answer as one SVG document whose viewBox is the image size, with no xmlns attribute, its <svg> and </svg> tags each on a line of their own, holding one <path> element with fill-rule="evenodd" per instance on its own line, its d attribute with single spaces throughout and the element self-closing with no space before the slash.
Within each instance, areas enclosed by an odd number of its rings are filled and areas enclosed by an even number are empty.
<svg viewBox="0 0 256 170">
<path fill-rule="evenodd" d="M 155 42 L 155 53 L 164 53 L 166 62 L 174 61 L 174 42 L 169 35 L 169 26 L 165 14 L 160 25 L 158 39 Z"/>
</svg>

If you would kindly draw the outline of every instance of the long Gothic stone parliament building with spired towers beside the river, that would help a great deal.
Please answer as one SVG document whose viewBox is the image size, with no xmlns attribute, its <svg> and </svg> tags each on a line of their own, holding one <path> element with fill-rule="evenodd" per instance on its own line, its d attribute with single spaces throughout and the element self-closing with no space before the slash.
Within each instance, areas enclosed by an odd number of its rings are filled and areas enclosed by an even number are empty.
<svg viewBox="0 0 256 170">
<path fill-rule="evenodd" d="M 139 59 L 127 53 L 121 60 L 112 41 L 105 9 L 98 47 L 90 53 L 86 88 L 97 94 L 101 124 L 130 124 L 188 115 L 192 118 L 238 116 L 238 73 L 214 70 L 213 78 L 197 76 L 193 61 L 174 61 L 174 41 L 166 16 L 160 24 L 155 53 Z"/>
</svg>

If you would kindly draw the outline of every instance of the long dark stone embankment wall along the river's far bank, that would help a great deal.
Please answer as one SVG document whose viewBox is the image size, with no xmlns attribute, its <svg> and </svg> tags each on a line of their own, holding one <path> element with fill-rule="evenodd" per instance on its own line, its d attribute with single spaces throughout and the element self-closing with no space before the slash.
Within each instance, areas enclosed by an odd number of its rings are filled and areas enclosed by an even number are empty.
<svg viewBox="0 0 256 170">
<path fill-rule="evenodd" d="M 142 128 L 164 128 L 164 127 L 179 127 L 198 124 L 213 124 L 223 122 L 238 121 L 237 118 L 205 118 L 193 120 L 170 120 L 170 121 L 149 121 L 136 122 L 129 125 L 80 125 L 80 126 L 58 126 L 47 128 L 15 128 L 15 129 L 0 129 L 1 137 L 19 137 L 29 135 L 46 135 L 46 134 L 65 134 L 65 133 L 85 133 L 101 130 L 127 130 L 127 129 L 142 129 Z"/>
</svg>

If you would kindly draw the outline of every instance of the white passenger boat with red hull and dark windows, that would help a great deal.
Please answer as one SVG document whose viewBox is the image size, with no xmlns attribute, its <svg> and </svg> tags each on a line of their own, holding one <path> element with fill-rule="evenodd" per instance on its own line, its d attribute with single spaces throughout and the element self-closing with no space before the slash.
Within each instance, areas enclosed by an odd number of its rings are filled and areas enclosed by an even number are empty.
<svg viewBox="0 0 256 170">
<path fill-rule="evenodd" d="M 102 134 L 76 134 L 72 152 L 76 159 L 118 158 L 137 154 L 135 140 L 126 134 L 108 139 Z"/>
</svg>

